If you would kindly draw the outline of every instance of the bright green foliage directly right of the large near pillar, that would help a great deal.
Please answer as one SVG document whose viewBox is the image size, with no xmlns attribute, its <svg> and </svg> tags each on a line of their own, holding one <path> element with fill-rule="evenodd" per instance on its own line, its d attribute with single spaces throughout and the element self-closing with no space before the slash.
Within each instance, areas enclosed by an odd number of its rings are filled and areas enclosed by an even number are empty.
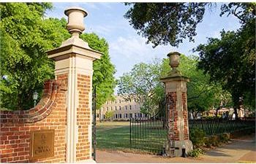
<svg viewBox="0 0 256 164">
<path fill-rule="evenodd" d="M 94 61 L 94 76 L 92 79 L 93 87 L 97 87 L 97 104 L 99 109 L 114 93 L 116 87 L 115 66 L 110 61 L 108 54 L 108 42 L 105 39 L 99 39 L 96 34 L 81 34 L 80 38 L 89 43 L 93 50 L 103 52 L 99 60 Z"/>
</svg>

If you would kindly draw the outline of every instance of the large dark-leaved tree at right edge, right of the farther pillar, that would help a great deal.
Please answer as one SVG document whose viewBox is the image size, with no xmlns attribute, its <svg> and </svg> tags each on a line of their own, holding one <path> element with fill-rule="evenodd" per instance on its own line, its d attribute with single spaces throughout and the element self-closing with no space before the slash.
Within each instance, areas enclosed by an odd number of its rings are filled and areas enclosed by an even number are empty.
<svg viewBox="0 0 256 164">
<path fill-rule="evenodd" d="M 220 82 L 233 98 L 236 117 L 237 109 L 243 104 L 255 109 L 255 9 L 252 4 L 228 6 L 242 21 L 237 31 L 222 31 L 221 39 L 210 38 L 207 44 L 200 44 L 200 69 L 211 75 L 211 80 Z"/>
</svg>

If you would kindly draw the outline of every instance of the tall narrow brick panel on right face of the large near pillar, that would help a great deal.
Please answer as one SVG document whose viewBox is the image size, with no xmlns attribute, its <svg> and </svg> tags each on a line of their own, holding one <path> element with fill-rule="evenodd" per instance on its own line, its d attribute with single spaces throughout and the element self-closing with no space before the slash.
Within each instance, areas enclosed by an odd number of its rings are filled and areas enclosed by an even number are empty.
<svg viewBox="0 0 256 164">
<path fill-rule="evenodd" d="M 89 141 L 89 123 L 90 106 L 89 92 L 91 91 L 91 78 L 89 76 L 78 74 L 78 143 L 76 144 L 77 160 L 88 160 L 90 158 L 90 141 Z"/>
</svg>

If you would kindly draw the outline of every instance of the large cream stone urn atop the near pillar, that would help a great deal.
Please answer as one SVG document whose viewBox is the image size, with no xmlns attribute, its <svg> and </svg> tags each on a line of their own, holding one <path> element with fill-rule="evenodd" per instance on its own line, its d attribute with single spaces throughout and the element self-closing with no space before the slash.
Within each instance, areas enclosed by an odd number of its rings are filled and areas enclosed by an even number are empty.
<svg viewBox="0 0 256 164">
<path fill-rule="evenodd" d="M 64 11 L 68 16 L 67 30 L 72 36 L 79 36 L 85 29 L 83 25 L 83 17 L 88 14 L 85 9 L 81 7 L 69 7 Z"/>
</svg>

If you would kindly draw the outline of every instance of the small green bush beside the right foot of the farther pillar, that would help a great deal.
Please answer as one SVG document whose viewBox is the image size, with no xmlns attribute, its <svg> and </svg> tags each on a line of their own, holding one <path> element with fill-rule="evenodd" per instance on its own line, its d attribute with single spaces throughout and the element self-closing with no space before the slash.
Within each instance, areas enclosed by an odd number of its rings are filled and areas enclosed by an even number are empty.
<svg viewBox="0 0 256 164">
<path fill-rule="evenodd" d="M 203 147 L 206 133 L 199 128 L 189 130 L 189 139 L 192 141 L 193 147 Z"/>
</svg>

